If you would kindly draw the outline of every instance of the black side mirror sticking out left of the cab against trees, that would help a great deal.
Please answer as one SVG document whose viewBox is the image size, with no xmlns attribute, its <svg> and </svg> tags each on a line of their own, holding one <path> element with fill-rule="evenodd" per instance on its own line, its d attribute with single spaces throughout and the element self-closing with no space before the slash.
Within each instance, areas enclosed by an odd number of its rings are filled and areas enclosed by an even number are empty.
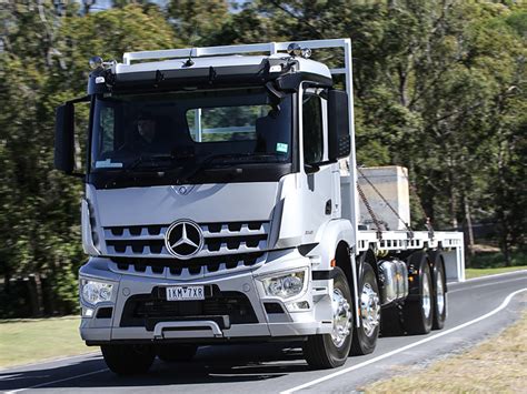
<svg viewBox="0 0 527 394">
<path fill-rule="evenodd" d="M 67 174 L 74 168 L 74 105 L 71 102 L 57 108 L 54 125 L 54 168 Z"/>
</svg>

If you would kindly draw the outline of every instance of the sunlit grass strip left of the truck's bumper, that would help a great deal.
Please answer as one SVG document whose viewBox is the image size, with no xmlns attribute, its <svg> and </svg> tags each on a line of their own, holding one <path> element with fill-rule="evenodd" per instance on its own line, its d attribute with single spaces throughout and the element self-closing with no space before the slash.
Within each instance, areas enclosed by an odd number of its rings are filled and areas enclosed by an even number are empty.
<svg viewBox="0 0 527 394">
<path fill-rule="evenodd" d="M 92 352 L 79 324 L 78 316 L 0 320 L 0 367 Z"/>
</svg>

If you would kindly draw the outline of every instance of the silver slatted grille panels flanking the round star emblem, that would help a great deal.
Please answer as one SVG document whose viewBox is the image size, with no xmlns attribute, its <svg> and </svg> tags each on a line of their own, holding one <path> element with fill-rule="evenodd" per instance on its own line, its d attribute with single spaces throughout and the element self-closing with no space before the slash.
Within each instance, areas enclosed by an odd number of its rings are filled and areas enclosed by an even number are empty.
<svg viewBox="0 0 527 394">
<path fill-rule="evenodd" d="M 199 224 L 205 245 L 196 257 L 265 251 L 269 224 L 264 221 Z M 173 259 L 165 246 L 169 225 L 103 228 L 107 255 Z"/>
</svg>

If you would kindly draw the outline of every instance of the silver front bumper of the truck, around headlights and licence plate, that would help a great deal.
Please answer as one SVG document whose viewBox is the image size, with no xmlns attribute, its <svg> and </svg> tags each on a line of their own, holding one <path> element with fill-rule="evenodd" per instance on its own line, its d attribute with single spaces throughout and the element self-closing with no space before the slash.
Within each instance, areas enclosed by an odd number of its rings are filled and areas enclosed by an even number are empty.
<svg viewBox="0 0 527 394">
<path fill-rule="evenodd" d="M 331 299 L 329 294 L 332 294 L 332 281 L 314 281 L 310 259 L 300 255 L 297 250 L 269 252 L 267 261 L 257 267 L 236 273 L 220 273 L 217 276 L 193 281 L 171 281 L 119 274 L 109 269 L 108 262 L 108 259 L 92 257 L 80 271 L 81 279 L 100 280 L 113 284 L 110 302 L 93 307 L 81 301 L 83 315 L 87 310 L 92 310 L 91 317 L 83 316 L 80 326 L 81 336 L 87 344 L 145 341 L 213 343 L 250 341 L 251 339 L 265 341 L 331 332 Z M 259 277 L 302 269 L 307 270 L 307 276 L 300 294 L 288 300 L 266 295 Z M 156 294 L 158 289 L 170 285 L 203 285 L 213 287 L 221 295 L 238 294 L 238 297 L 246 300 L 247 305 L 250 305 L 248 309 L 252 310 L 252 320 L 250 323 L 239 323 L 235 317 L 228 324 L 218 324 L 217 319 L 208 319 L 208 315 L 203 314 L 197 315 L 196 319 L 186 316 L 182 321 L 172 319 L 163 321 L 157 316 L 157 320 L 150 325 L 147 323 L 137 324 L 138 320 L 135 320 L 133 324 L 127 323 L 126 316 L 131 313 L 130 311 L 137 312 L 138 307 L 142 309 L 143 305 L 149 305 L 148 303 L 152 303 L 152 301 L 149 299 L 150 301 L 147 300 L 141 306 L 135 307 L 127 306 L 127 302 L 130 303 L 138 297 Z M 160 306 L 172 310 L 173 302 L 160 300 L 159 303 Z M 186 303 L 186 301 L 180 303 Z M 305 309 L 292 311 L 291 305 L 297 303 L 301 303 Z M 269 304 L 272 304 L 272 307 L 269 307 Z M 103 309 L 106 312 L 111 309 L 111 314 L 101 313 Z M 226 320 L 229 321 L 228 316 Z"/>
</svg>

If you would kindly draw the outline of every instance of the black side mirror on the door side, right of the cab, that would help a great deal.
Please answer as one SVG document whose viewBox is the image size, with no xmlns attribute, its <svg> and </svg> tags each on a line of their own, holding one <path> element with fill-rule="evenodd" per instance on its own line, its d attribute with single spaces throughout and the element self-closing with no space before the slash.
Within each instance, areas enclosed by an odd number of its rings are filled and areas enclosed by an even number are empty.
<svg viewBox="0 0 527 394">
<path fill-rule="evenodd" d="M 351 152 L 349 135 L 348 93 L 328 91 L 328 159 L 337 161 Z"/>
</svg>

